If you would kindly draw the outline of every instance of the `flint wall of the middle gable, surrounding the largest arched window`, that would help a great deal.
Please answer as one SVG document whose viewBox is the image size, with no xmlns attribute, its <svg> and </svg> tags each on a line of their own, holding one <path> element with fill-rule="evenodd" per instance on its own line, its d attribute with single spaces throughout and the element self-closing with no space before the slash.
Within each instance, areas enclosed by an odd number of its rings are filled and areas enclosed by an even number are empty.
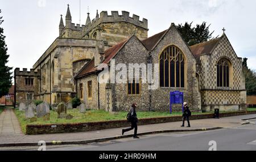
<svg viewBox="0 0 256 162">
<path fill-rule="evenodd" d="M 160 40 L 159 44 L 154 50 L 152 50 L 152 63 L 159 63 L 159 56 L 162 50 L 170 45 L 175 45 L 183 52 L 185 59 L 185 77 L 184 77 L 184 88 L 167 88 L 160 87 L 152 91 L 152 108 L 156 110 L 168 111 L 170 109 L 170 92 L 180 91 L 184 93 L 184 101 L 188 103 L 189 108 L 192 111 L 201 110 L 199 83 L 196 79 L 196 59 L 189 50 L 187 44 L 181 38 L 179 32 L 175 28 L 175 25 L 171 25 L 166 35 Z M 175 106 L 175 105 L 174 105 Z M 179 110 L 181 109 L 181 105 Z M 176 108 L 174 108 L 175 110 Z"/>
</svg>

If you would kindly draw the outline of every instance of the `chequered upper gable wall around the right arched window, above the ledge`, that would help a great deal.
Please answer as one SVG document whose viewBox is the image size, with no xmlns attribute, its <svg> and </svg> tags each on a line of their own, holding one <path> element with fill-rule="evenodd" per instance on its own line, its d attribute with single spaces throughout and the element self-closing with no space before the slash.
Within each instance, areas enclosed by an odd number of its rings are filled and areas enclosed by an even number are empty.
<svg viewBox="0 0 256 162">
<path fill-rule="evenodd" d="M 230 68 L 230 87 L 217 87 L 217 62 L 221 58 L 227 58 L 232 64 Z M 202 73 L 202 89 L 239 90 L 242 84 L 242 60 L 237 58 L 226 36 L 223 36 L 212 54 L 200 57 Z M 233 71 L 233 72 L 232 72 Z"/>
</svg>

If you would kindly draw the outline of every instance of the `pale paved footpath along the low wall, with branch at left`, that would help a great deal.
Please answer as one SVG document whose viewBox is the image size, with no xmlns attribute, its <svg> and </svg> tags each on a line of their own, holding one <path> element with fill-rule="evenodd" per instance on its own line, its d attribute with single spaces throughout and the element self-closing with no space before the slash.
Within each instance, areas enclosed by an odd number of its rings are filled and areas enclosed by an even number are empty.
<svg viewBox="0 0 256 162">
<path fill-rule="evenodd" d="M 157 130 L 188 130 L 188 129 L 201 129 L 208 127 L 236 127 L 241 126 L 242 119 L 254 118 L 256 114 L 250 114 L 246 116 L 226 117 L 220 119 L 205 119 L 205 120 L 192 120 L 190 128 L 180 127 L 181 122 L 159 123 L 153 125 L 138 126 L 138 133 L 144 133 L 148 131 Z M 13 110 L 6 109 L 0 116 L 0 144 L 1 143 L 32 143 L 44 140 L 46 142 L 52 142 L 53 140 L 61 141 L 76 141 L 76 140 L 89 140 L 100 139 L 107 137 L 115 137 L 121 135 L 122 128 L 106 129 L 98 131 L 86 131 L 80 133 L 61 133 L 61 134 L 43 134 L 43 135 L 24 135 L 20 131 L 18 120 L 15 117 Z M 133 134 L 130 131 L 127 134 Z"/>
</svg>

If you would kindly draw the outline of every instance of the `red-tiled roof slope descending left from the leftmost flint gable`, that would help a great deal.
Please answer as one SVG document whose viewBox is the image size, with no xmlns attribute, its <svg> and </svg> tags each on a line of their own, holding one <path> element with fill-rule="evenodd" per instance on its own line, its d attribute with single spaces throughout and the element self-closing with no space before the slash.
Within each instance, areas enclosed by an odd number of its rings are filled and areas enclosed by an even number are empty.
<svg viewBox="0 0 256 162">
<path fill-rule="evenodd" d="M 120 42 L 119 44 L 114 45 L 111 48 L 105 50 L 105 59 L 102 63 L 108 64 L 110 62 L 110 60 L 119 52 L 119 50 L 122 49 L 123 45 L 125 45 L 128 40 L 129 39 L 126 39 L 126 40 Z M 86 65 L 84 67 L 82 67 L 82 69 L 79 71 L 79 73 L 77 73 L 76 78 L 80 78 L 85 75 L 93 74 L 93 73 L 96 73 L 97 71 L 98 70 L 94 65 L 94 58 L 93 58 L 91 61 L 86 63 Z"/>
</svg>

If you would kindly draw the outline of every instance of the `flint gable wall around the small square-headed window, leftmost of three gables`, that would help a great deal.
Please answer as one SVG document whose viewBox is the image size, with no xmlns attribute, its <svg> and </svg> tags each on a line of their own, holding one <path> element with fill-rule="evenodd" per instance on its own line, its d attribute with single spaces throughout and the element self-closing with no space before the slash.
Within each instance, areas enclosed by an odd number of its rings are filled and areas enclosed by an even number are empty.
<svg viewBox="0 0 256 162">
<path fill-rule="evenodd" d="M 148 53 L 146 48 L 142 45 L 142 43 L 137 39 L 137 37 L 133 36 L 127 42 L 127 44 L 120 50 L 117 56 L 114 57 L 115 66 L 119 63 L 123 63 L 126 67 L 129 67 L 129 63 L 138 63 L 140 65 L 143 63 L 147 66 Z M 119 71 L 115 71 L 115 76 Z M 135 73 L 135 72 L 134 72 Z M 127 69 L 127 76 L 129 76 L 129 69 Z M 140 78 L 142 74 L 140 74 Z M 149 91 L 148 84 L 141 84 L 141 94 L 140 95 L 128 95 L 128 80 L 126 79 L 126 83 L 116 83 L 112 86 L 113 90 L 113 109 L 117 111 L 121 110 L 130 110 L 131 104 L 137 103 L 138 110 L 149 110 Z"/>
</svg>

